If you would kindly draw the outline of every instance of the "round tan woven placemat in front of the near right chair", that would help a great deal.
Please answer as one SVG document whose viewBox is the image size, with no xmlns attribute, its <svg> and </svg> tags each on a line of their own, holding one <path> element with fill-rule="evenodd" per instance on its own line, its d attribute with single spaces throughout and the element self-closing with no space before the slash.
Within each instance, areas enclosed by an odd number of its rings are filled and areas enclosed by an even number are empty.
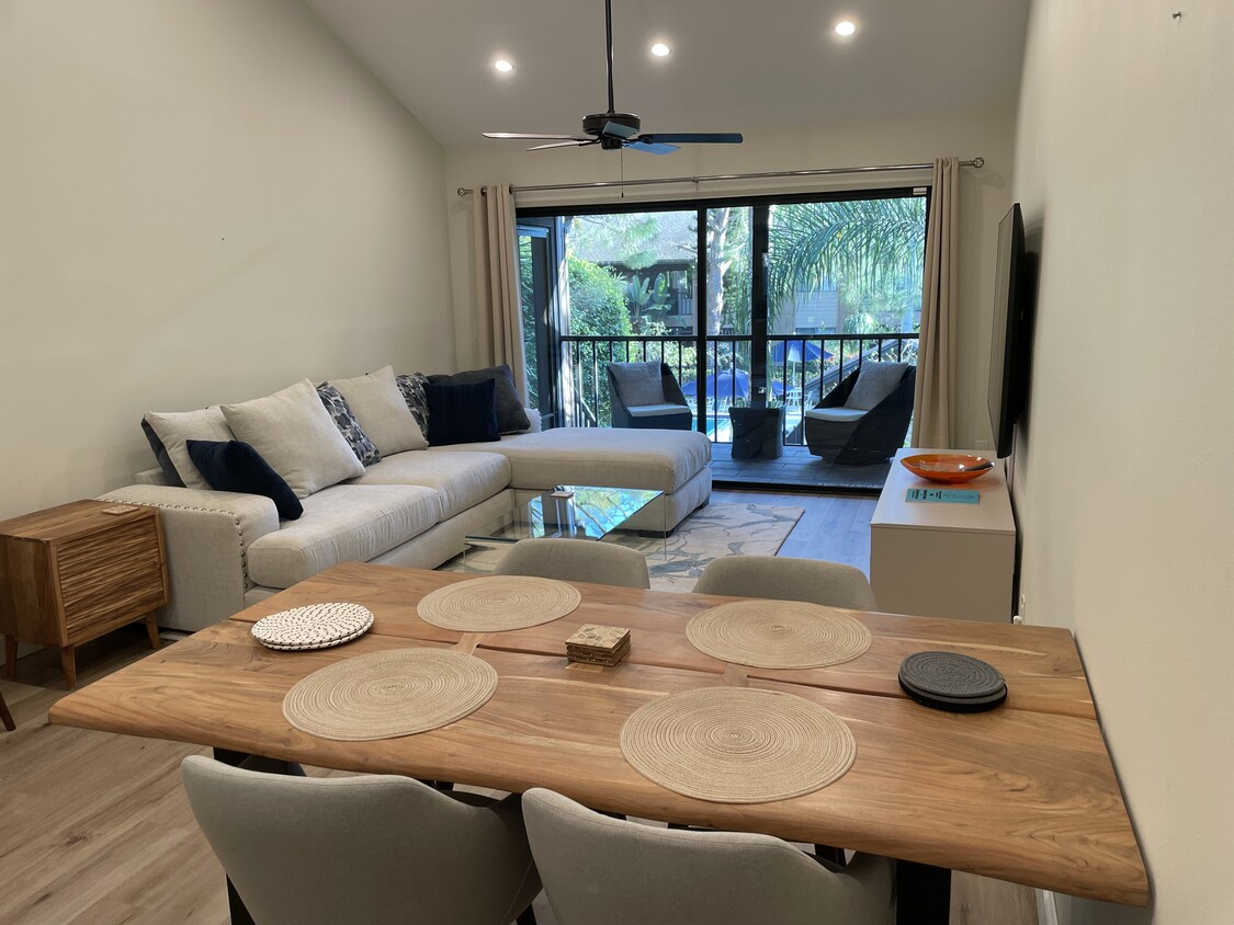
<svg viewBox="0 0 1234 925">
<path fill-rule="evenodd" d="M 706 687 L 637 709 L 621 730 L 643 777 L 713 803 L 770 803 L 812 793 L 847 772 L 856 740 L 818 704 L 774 691 Z"/>
</svg>

